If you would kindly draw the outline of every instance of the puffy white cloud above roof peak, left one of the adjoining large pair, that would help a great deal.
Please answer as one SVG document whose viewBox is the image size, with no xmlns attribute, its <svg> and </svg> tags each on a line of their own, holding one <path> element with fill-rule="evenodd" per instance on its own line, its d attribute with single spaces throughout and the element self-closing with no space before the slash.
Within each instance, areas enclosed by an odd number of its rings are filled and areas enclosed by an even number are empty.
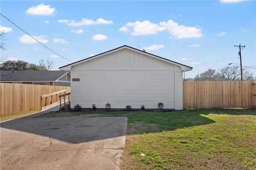
<svg viewBox="0 0 256 170">
<path fill-rule="evenodd" d="M 131 35 L 150 35 L 156 34 L 159 31 L 164 31 L 164 27 L 156 23 L 151 23 L 150 21 L 136 21 L 136 22 L 128 22 L 126 23 L 127 27 L 134 27 Z"/>
</svg>

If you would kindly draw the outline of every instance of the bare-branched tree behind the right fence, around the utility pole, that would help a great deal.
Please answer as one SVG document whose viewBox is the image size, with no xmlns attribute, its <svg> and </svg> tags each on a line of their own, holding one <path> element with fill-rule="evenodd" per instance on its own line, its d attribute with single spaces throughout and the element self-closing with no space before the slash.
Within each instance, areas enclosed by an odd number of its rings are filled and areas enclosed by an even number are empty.
<svg viewBox="0 0 256 170">
<path fill-rule="evenodd" d="M 242 68 L 243 80 L 255 80 L 253 73 L 246 70 L 246 67 Z M 241 68 L 239 65 L 225 66 L 218 70 L 218 76 L 222 80 L 237 81 L 241 80 Z"/>
</svg>

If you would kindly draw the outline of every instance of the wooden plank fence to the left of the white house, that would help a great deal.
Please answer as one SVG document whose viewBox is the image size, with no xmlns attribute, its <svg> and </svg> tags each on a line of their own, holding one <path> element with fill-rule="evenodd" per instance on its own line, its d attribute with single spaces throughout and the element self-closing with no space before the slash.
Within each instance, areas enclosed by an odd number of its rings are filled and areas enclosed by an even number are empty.
<svg viewBox="0 0 256 170">
<path fill-rule="evenodd" d="M 41 96 L 60 90 L 66 90 L 69 93 L 70 87 L 0 83 L 0 115 L 39 109 L 41 107 Z"/>
</svg>

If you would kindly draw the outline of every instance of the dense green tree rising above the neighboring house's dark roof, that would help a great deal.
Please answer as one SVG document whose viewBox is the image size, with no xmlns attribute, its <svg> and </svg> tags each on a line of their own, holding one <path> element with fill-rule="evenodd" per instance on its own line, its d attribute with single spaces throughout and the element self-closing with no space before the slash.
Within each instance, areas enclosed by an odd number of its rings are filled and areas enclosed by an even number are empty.
<svg viewBox="0 0 256 170">
<path fill-rule="evenodd" d="M 26 61 L 5 61 L 0 64 L 1 70 L 46 70 L 46 67 L 31 64 Z"/>
</svg>

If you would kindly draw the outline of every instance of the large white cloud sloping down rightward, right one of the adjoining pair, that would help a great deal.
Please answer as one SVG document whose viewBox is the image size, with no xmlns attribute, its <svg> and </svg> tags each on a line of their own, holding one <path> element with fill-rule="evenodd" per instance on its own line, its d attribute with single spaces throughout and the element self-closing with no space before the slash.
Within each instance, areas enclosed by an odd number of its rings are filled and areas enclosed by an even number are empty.
<svg viewBox="0 0 256 170">
<path fill-rule="evenodd" d="M 160 25 L 168 29 L 168 31 L 172 34 L 170 38 L 186 39 L 203 37 L 202 30 L 200 28 L 178 25 L 178 23 L 172 20 L 160 22 Z"/>
</svg>

